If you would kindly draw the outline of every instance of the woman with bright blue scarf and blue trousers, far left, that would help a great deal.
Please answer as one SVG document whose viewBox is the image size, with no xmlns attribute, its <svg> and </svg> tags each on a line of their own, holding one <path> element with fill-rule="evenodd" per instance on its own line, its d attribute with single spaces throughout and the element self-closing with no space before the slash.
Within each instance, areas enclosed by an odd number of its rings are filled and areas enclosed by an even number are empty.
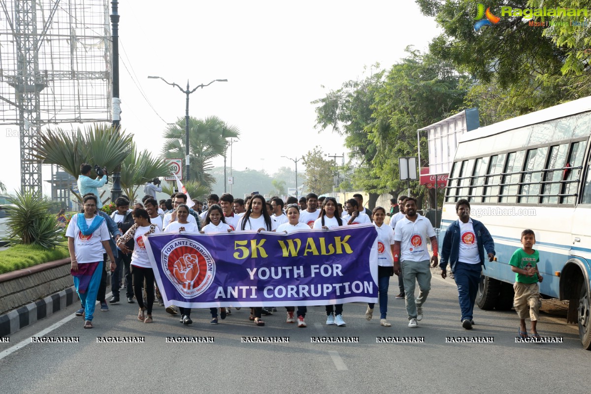
<svg viewBox="0 0 591 394">
<path fill-rule="evenodd" d="M 74 286 L 84 308 L 84 328 L 93 327 L 96 295 L 102 278 L 103 250 L 106 250 L 111 259 L 111 271 L 115 271 L 115 257 L 109 245 L 111 235 L 106 220 L 97 214 L 96 205 L 94 195 L 84 197 L 84 213 L 72 216 L 66 229 Z"/>
</svg>

